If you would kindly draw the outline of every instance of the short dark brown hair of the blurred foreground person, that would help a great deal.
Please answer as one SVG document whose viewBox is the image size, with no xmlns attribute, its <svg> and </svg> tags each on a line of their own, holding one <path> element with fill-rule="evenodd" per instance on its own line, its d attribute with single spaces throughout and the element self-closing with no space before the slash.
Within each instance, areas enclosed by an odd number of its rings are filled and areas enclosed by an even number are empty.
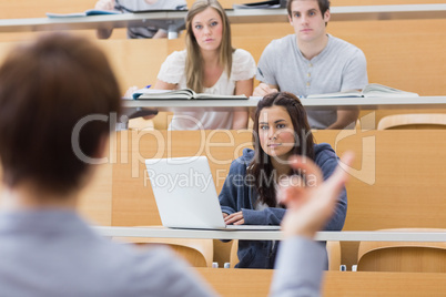
<svg viewBox="0 0 446 297">
<path fill-rule="evenodd" d="M 85 38 L 50 33 L 16 47 L 0 68 L 3 183 L 58 194 L 81 186 L 91 165 L 79 153 L 98 157 L 120 93 L 105 54 Z"/>
</svg>

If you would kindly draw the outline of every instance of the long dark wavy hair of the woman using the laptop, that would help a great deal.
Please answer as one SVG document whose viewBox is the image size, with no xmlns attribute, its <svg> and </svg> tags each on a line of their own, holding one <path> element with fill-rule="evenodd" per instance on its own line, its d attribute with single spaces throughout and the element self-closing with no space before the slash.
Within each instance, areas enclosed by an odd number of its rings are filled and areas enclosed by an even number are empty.
<svg viewBox="0 0 446 297">
<path fill-rule="evenodd" d="M 253 126 L 254 160 L 247 170 L 252 175 L 254 186 L 260 195 L 260 201 L 270 207 L 276 207 L 275 187 L 272 183 L 274 176 L 273 165 L 270 156 L 263 151 L 259 139 L 259 117 L 265 107 L 283 106 L 290 114 L 294 127 L 295 146 L 292 153 L 305 155 L 314 160 L 314 139 L 306 119 L 306 112 L 301 101 L 292 93 L 277 92 L 264 96 L 257 104 Z"/>
</svg>

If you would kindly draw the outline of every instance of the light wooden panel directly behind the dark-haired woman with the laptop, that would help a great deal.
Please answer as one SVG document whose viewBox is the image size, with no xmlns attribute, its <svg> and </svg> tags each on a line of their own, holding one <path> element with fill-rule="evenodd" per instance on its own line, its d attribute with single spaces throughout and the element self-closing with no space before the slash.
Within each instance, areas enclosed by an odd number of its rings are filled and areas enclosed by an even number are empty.
<svg viewBox="0 0 446 297">
<path fill-rule="evenodd" d="M 354 177 L 347 185 L 348 212 L 344 229 L 443 227 L 446 213 L 446 131 L 318 131 L 338 154 L 356 153 Z M 116 134 L 112 164 L 112 225 L 160 225 L 144 158 L 207 155 L 220 192 L 230 163 L 251 146 L 250 131 L 145 131 Z M 435 157 L 426 152 L 435 151 Z M 398 209 L 397 212 L 395 209 Z M 428 214 L 428 215 L 426 215 Z M 230 248 L 230 247 L 229 247 Z M 343 264 L 356 262 L 357 244 L 343 248 Z M 345 249 L 346 248 L 346 249 Z M 344 253 L 344 249 L 346 253 Z M 229 255 L 229 249 L 226 250 Z M 226 253 L 225 252 L 225 253 Z M 217 253 L 216 253 L 217 254 Z M 345 254 L 345 255 L 344 255 Z M 229 262 L 226 258 L 219 262 Z"/>
</svg>

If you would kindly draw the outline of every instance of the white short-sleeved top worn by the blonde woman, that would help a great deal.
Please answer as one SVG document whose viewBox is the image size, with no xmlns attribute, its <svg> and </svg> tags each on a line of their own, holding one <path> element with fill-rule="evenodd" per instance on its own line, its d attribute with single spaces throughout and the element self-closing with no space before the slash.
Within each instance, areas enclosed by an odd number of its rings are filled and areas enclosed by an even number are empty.
<svg viewBox="0 0 446 297">
<path fill-rule="evenodd" d="M 185 78 L 185 59 L 186 51 L 175 51 L 170 54 L 161 65 L 158 79 L 176 84 L 176 89 L 186 88 Z M 255 74 L 254 58 L 245 50 L 237 49 L 232 54 L 232 70 L 227 78 L 226 71 L 223 71 L 219 81 L 211 88 L 204 88 L 203 93 L 233 95 L 235 92 L 235 83 L 237 81 L 250 80 Z M 169 130 L 214 130 L 214 129 L 232 129 L 232 112 L 205 112 L 174 111 L 174 116 Z"/>
</svg>

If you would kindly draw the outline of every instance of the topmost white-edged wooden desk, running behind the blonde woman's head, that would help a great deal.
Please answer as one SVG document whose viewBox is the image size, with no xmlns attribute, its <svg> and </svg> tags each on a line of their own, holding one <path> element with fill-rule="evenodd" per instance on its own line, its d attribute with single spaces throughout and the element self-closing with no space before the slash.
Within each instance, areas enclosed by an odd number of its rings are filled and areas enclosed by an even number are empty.
<svg viewBox="0 0 446 297">
<path fill-rule="evenodd" d="M 98 28 L 143 27 L 150 21 L 183 21 L 187 11 L 124 13 L 81 18 L 34 18 L 0 20 L 0 32 L 24 32 L 41 30 L 83 30 Z M 286 9 L 226 10 L 231 23 L 287 22 Z M 444 19 L 446 4 L 399 4 L 332 7 L 331 21 Z"/>
</svg>

